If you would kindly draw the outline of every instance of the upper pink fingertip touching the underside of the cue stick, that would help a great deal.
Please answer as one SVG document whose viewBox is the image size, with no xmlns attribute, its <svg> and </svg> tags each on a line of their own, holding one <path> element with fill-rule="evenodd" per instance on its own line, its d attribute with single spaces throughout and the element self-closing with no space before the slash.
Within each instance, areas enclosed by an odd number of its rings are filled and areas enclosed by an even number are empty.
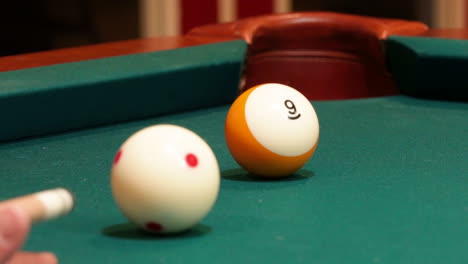
<svg viewBox="0 0 468 264">
<path fill-rule="evenodd" d="M 4 263 L 22 245 L 31 221 L 25 211 L 15 206 L 0 208 L 0 263 Z"/>
</svg>

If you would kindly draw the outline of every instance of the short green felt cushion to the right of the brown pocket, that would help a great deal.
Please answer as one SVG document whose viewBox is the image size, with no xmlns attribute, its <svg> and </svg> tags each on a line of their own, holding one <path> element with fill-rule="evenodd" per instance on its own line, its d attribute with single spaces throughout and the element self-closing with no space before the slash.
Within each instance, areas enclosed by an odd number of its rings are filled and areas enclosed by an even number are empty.
<svg viewBox="0 0 468 264">
<path fill-rule="evenodd" d="M 390 37 L 385 42 L 390 72 L 405 94 L 468 100 L 468 41 Z"/>
</svg>

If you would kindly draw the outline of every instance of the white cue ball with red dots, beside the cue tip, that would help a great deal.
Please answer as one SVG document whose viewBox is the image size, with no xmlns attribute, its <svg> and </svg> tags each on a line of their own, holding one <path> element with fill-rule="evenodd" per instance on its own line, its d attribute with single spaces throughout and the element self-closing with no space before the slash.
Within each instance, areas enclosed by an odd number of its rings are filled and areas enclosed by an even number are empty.
<svg viewBox="0 0 468 264">
<path fill-rule="evenodd" d="M 137 226 L 153 233 L 190 229 L 213 207 L 220 173 L 209 145 L 175 125 L 154 125 L 130 136 L 111 170 L 114 200 Z"/>
</svg>

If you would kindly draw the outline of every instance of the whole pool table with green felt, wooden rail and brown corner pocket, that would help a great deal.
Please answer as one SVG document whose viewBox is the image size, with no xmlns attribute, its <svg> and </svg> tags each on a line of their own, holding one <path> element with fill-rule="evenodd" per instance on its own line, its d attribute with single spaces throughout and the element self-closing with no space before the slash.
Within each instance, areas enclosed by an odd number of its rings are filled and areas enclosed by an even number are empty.
<svg viewBox="0 0 468 264">
<path fill-rule="evenodd" d="M 246 24 L 261 19 L 257 36 Z M 0 199 L 55 187 L 76 196 L 69 215 L 33 227 L 26 250 L 67 264 L 468 263 L 466 80 L 444 71 L 467 63 L 463 40 L 331 13 L 214 27 L 0 58 Z M 312 49 L 294 46 L 301 36 Z M 446 87 L 425 94 L 434 75 Z M 312 159 L 280 180 L 241 169 L 224 140 L 230 104 L 268 76 L 298 87 L 320 122 Z M 122 142 L 161 123 L 198 133 L 221 171 L 212 211 L 173 236 L 129 224 L 110 189 Z"/>
</svg>

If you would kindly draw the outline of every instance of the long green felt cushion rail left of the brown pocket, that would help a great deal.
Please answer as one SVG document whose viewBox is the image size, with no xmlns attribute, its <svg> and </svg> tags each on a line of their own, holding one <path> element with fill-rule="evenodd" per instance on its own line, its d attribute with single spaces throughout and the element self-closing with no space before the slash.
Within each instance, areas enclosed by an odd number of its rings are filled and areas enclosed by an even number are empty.
<svg viewBox="0 0 468 264">
<path fill-rule="evenodd" d="M 245 52 L 230 41 L 0 73 L 0 141 L 232 102 Z"/>
</svg>

